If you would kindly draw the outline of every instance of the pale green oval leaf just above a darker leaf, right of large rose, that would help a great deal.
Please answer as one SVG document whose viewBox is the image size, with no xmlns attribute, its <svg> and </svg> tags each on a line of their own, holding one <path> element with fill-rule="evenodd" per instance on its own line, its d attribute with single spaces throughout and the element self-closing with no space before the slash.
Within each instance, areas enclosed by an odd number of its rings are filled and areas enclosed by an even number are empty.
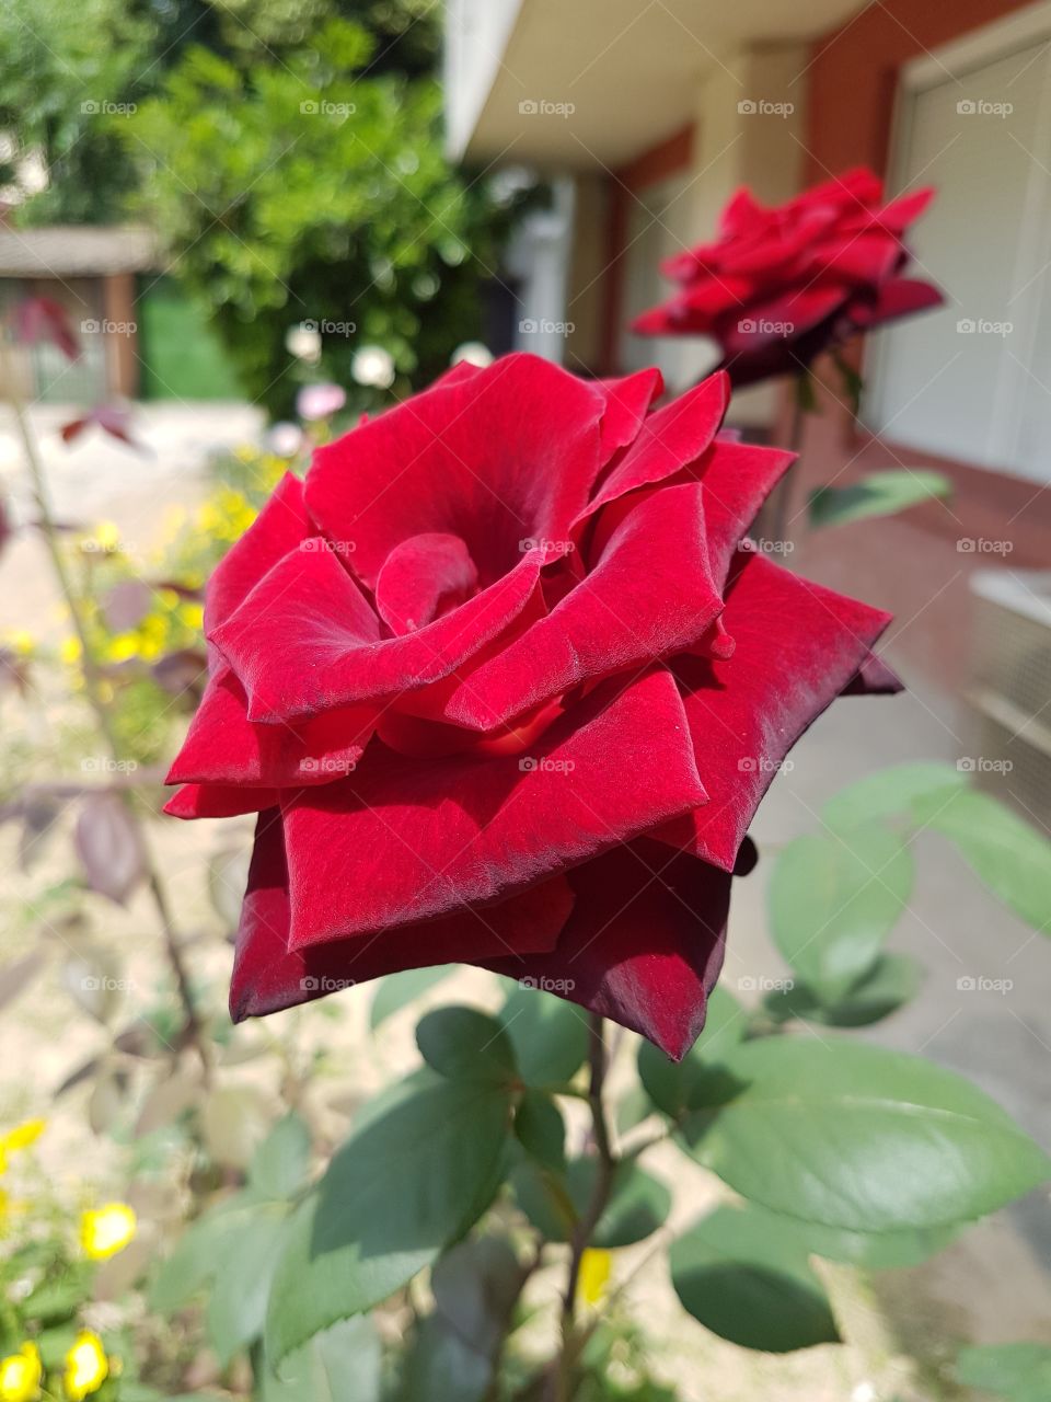
<svg viewBox="0 0 1051 1402">
<path fill-rule="evenodd" d="M 873 822 L 797 837 L 769 886 L 774 942 L 824 1001 L 872 967 L 912 890 L 907 838 Z"/>
</svg>

